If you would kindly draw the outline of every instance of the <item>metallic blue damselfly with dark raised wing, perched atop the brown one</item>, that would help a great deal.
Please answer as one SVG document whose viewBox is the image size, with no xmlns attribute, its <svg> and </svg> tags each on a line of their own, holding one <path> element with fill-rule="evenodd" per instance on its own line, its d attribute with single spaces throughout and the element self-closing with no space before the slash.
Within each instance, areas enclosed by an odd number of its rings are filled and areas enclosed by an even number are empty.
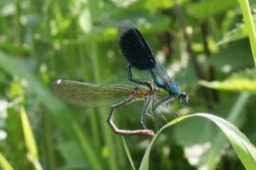
<svg viewBox="0 0 256 170">
<path fill-rule="evenodd" d="M 144 40 L 142 34 L 136 28 L 132 21 L 122 21 L 119 26 L 119 46 L 122 54 L 128 60 L 127 64 L 127 75 L 128 79 L 138 84 L 144 84 L 152 89 L 152 84 L 149 81 L 140 79 L 134 79 L 132 77 L 132 67 L 139 70 L 148 70 L 151 77 L 154 79 L 154 84 L 159 88 L 166 90 L 169 96 L 164 98 L 159 103 L 156 103 L 154 107 L 157 108 L 162 103 L 168 103 L 178 98 L 178 101 L 188 101 L 188 94 L 185 91 L 178 89 L 176 81 L 169 77 L 164 66 L 154 57 L 151 52 L 149 45 Z"/>
</svg>

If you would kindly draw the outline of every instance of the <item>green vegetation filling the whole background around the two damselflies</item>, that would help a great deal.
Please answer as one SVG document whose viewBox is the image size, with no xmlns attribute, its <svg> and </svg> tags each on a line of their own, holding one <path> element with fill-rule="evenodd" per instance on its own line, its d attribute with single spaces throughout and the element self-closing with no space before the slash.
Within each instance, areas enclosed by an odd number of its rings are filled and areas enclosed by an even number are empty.
<svg viewBox="0 0 256 170">
<path fill-rule="evenodd" d="M 248 0 L 1 0 L 1 169 L 255 169 L 255 7 Z M 161 108 L 169 123 L 147 118 L 153 138 L 114 135 L 109 106 L 78 108 L 50 94 L 56 79 L 135 85 L 117 43 L 124 19 L 190 95 L 185 106 L 172 103 L 181 117 Z M 142 102 L 120 108 L 114 122 L 142 128 L 141 111 Z"/>
</svg>

